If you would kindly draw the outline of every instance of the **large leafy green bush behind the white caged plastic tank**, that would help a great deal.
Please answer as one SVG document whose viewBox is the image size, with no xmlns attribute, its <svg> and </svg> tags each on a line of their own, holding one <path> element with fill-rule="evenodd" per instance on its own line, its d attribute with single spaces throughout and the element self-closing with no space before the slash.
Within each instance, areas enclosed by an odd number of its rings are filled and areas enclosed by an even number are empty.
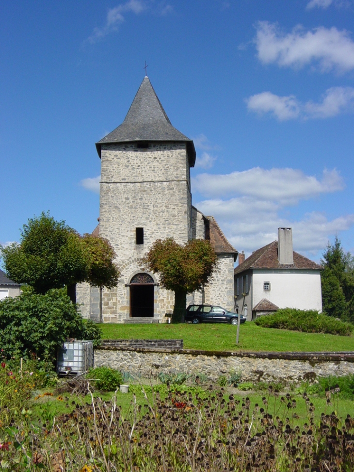
<svg viewBox="0 0 354 472">
<path fill-rule="evenodd" d="M 40 358 L 54 364 L 58 347 L 67 338 L 97 341 L 100 332 L 84 323 L 63 290 L 45 295 L 24 293 L 0 302 L 0 346 L 7 359 Z"/>
</svg>

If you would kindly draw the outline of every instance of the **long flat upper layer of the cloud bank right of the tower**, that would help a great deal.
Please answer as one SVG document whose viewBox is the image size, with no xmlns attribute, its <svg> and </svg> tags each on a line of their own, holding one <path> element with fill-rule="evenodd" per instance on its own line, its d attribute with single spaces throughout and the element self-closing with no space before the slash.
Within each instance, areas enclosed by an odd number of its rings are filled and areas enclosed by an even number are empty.
<svg viewBox="0 0 354 472">
<path fill-rule="evenodd" d="M 306 176 L 299 169 L 254 167 L 225 175 L 199 174 L 192 179 L 192 184 L 195 190 L 207 197 L 244 195 L 282 205 L 296 205 L 299 200 L 344 188 L 343 179 L 336 169 L 325 169 L 319 180 Z"/>
</svg>

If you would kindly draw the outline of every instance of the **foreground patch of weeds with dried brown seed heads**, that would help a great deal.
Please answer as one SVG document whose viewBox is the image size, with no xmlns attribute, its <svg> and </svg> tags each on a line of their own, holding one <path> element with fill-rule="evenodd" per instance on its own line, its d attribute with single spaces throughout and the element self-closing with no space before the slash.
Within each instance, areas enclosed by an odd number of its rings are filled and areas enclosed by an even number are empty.
<svg viewBox="0 0 354 472">
<path fill-rule="evenodd" d="M 337 390 L 337 392 L 335 391 Z M 332 404 L 337 389 L 329 389 Z M 22 411 L 2 431 L 0 464 L 13 471 L 124 472 L 350 472 L 354 467 L 354 419 L 343 423 L 332 412 L 314 421 L 304 392 L 297 400 L 269 386 L 262 405 L 251 408 L 223 391 L 206 395 L 145 392 L 123 415 L 116 393 L 105 402 L 73 402 L 72 411 L 43 414 L 32 422 Z M 270 411 L 270 399 L 272 411 Z M 336 400 L 335 400 L 336 401 Z M 297 425 L 297 403 L 305 402 L 307 421 Z M 330 406 L 330 405 L 329 405 Z M 67 405 L 69 407 L 69 405 Z"/>
</svg>

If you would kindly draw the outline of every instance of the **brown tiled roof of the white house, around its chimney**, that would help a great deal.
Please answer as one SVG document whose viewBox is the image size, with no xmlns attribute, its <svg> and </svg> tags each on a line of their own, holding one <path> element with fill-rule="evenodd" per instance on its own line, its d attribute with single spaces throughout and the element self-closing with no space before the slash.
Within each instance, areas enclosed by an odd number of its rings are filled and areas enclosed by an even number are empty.
<svg viewBox="0 0 354 472">
<path fill-rule="evenodd" d="M 298 252 L 293 251 L 293 264 L 280 264 L 278 260 L 278 242 L 267 244 L 257 249 L 250 257 L 238 265 L 234 273 L 240 274 L 247 269 L 323 269 L 322 265 L 307 259 Z"/>
</svg>

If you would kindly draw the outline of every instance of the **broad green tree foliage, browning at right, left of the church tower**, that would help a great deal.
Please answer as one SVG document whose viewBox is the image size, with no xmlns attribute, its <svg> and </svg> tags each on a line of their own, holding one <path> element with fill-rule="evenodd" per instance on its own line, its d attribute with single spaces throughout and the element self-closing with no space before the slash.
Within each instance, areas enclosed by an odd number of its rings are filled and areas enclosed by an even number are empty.
<svg viewBox="0 0 354 472">
<path fill-rule="evenodd" d="M 75 284 L 83 281 L 112 288 L 119 272 L 113 263 L 112 246 L 103 238 L 80 236 L 64 221 L 44 213 L 28 220 L 19 244 L 2 247 L 7 275 L 26 283 L 35 293 L 67 287 L 75 301 Z"/>
</svg>

